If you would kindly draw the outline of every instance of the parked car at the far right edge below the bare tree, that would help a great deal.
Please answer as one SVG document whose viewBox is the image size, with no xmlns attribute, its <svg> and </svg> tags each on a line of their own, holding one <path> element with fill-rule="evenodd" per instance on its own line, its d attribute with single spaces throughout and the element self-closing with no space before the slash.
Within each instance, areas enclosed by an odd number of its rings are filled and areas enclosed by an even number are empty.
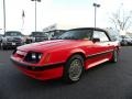
<svg viewBox="0 0 132 99">
<path fill-rule="evenodd" d="M 121 35 L 121 45 L 132 45 L 132 37 L 129 35 Z"/>
</svg>

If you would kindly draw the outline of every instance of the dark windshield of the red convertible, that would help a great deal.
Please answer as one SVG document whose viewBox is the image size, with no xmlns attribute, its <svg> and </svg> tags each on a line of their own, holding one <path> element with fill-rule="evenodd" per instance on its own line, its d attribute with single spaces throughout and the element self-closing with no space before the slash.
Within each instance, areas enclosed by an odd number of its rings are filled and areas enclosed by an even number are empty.
<svg viewBox="0 0 132 99">
<path fill-rule="evenodd" d="M 90 40 L 91 30 L 70 30 L 58 36 L 61 40 Z"/>
</svg>

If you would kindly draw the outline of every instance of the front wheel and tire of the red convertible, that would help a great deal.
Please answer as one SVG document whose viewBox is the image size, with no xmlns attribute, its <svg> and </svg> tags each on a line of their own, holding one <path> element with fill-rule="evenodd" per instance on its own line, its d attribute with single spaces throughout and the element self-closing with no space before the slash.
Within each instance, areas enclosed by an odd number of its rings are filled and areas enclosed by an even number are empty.
<svg viewBox="0 0 132 99">
<path fill-rule="evenodd" d="M 72 56 L 64 67 L 64 80 L 66 82 L 76 82 L 80 79 L 84 70 L 84 58 L 80 55 Z"/>
</svg>

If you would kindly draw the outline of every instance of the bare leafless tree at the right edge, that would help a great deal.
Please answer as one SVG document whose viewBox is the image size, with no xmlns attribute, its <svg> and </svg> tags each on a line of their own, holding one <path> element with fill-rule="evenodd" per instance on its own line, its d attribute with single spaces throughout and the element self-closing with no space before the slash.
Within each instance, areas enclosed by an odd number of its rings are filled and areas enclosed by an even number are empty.
<svg viewBox="0 0 132 99">
<path fill-rule="evenodd" d="M 132 11 L 125 12 L 123 9 L 120 9 L 112 13 L 110 20 L 117 30 L 127 31 L 132 24 Z"/>
</svg>

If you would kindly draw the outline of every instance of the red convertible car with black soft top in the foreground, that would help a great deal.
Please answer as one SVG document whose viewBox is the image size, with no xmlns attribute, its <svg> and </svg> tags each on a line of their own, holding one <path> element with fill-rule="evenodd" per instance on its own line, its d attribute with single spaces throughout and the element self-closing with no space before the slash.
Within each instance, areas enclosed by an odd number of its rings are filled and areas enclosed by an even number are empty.
<svg viewBox="0 0 132 99">
<path fill-rule="evenodd" d="M 78 81 L 85 69 L 105 62 L 118 62 L 120 45 L 102 29 L 73 29 L 56 40 L 19 46 L 13 64 L 35 79 L 63 78 Z"/>
</svg>

